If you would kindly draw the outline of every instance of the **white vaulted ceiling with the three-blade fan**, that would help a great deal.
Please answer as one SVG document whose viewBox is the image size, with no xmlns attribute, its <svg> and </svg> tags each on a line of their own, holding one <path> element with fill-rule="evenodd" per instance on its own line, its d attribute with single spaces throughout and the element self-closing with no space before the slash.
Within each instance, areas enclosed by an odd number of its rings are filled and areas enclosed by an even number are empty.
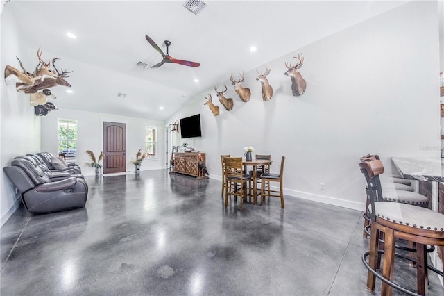
<svg viewBox="0 0 444 296">
<path fill-rule="evenodd" d="M 74 71 L 67 79 L 72 94 L 67 88 L 53 89 L 58 108 L 166 120 L 232 73 L 255 69 L 405 2 L 208 0 L 194 15 L 182 6 L 185 0 L 11 0 L 3 14 L 12 13 L 17 20 L 29 55 L 21 59 L 33 63 L 26 67 L 35 67 L 41 47 L 45 60 L 56 56 L 56 65 Z M 67 38 L 68 32 L 77 38 Z M 170 40 L 171 56 L 200 67 L 137 67 L 138 61 L 151 66 L 162 60 L 145 35 L 165 53 L 163 41 Z M 257 51 L 250 52 L 252 45 Z"/>
</svg>

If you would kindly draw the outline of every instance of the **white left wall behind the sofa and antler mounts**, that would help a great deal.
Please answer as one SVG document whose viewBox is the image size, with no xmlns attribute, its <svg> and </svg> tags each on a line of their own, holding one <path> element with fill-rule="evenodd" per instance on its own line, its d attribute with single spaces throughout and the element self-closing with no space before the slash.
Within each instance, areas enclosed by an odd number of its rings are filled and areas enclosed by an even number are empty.
<svg viewBox="0 0 444 296">
<path fill-rule="evenodd" d="M 1 3 L 3 5 L 3 3 Z M 19 68 L 15 56 L 21 57 L 26 63 L 24 51 L 19 40 L 16 19 L 8 5 L 1 13 L 1 63 L 0 69 L 6 65 Z M 26 64 L 25 64 L 26 65 Z M 2 72 L 3 77 L 3 72 Z M 6 167 L 12 158 L 20 154 L 28 154 L 40 149 L 40 118 L 34 116 L 29 106 L 29 98 L 15 90 L 15 85 L 6 85 L 0 79 L 1 115 L 0 115 L 0 165 Z M 0 217 L 3 225 L 18 206 L 19 196 L 3 170 L 0 170 Z"/>
</svg>

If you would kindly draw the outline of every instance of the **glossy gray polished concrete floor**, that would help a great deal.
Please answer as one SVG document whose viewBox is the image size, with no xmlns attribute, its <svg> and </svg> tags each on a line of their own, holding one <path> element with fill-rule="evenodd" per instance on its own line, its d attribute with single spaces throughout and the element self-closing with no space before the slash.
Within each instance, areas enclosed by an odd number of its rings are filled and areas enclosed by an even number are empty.
<svg viewBox="0 0 444 296">
<path fill-rule="evenodd" d="M 2 296 L 370 295 L 359 211 L 296 197 L 224 208 L 221 181 L 167 170 L 86 180 L 85 208 L 21 207 L 3 225 Z M 413 268 L 395 274 L 415 288 Z M 444 295 L 433 272 L 429 295 Z"/>
</svg>

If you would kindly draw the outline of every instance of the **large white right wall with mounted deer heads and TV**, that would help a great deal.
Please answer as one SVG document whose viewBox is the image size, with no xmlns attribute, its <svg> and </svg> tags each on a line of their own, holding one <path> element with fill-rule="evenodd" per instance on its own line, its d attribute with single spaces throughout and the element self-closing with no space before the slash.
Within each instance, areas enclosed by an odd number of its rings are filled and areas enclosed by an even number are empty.
<svg viewBox="0 0 444 296">
<path fill-rule="evenodd" d="M 255 69 L 239 69 L 252 92 L 248 103 L 230 88 L 234 109 L 218 103 L 214 117 L 203 106 L 214 90 L 205 90 L 168 122 L 200 113 L 203 138 L 195 146 L 206 152 L 212 178 L 221 179 L 220 154 L 242 156 L 251 145 L 272 155 L 274 170 L 287 156 L 287 195 L 363 211 L 359 157 L 379 154 L 389 174 L 391 156 L 440 156 L 436 7 L 411 1 L 270 61 L 271 101 L 262 101 Z M 298 52 L 307 91 L 293 97 L 284 63 L 295 64 Z"/>
</svg>

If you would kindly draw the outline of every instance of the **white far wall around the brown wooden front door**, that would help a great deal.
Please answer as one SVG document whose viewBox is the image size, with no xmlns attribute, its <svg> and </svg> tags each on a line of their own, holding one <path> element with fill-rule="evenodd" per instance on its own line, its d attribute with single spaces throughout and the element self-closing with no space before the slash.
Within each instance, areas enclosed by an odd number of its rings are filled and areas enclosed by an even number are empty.
<svg viewBox="0 0 444 296">
<path fill-rule="evenodd" d="M 76 99 L 73 97 L 73 99 Z M 82 168 L 84 175 L 94 174 L 94 168 L 88 167 L 85 163 L 89 162 L 86 150 L 94 152 L 96 157 L 103 151 L 103 122 L 121 122 L 126 124 L 126 170 L 134 172 L 134 165 L 129 162 L 135 158 L 137 151 L 145 150 L 145 126 L 156 126 L 159 133 L 157 151 L 158 158 L 146 159 L 142 163 L 141 170 L 158 170 L 164 168 L 165 144 L 164 122 L 157 120 L 145 120 L 143 118 L 124 117 L 119 115 L 110 115 L 95 112 L 86 112 L 79 110 L 60 109 L 42 117 L 42 151 L 58 154 L 57 140 L 57 119 L 66 118 L 77 120 L 77 158 L 76 163 Z M 102 163 L 103 164 L 103 163 Z"/>
</svg>

